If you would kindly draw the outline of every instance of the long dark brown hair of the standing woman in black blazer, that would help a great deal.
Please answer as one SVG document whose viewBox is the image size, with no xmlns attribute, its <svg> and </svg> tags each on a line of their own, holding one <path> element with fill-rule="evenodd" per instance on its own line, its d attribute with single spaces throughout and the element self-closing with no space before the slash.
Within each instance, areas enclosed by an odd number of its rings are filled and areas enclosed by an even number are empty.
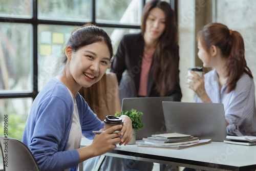
<svg viewBox="0 0 256 171">
<path fill-rule="evenodd" d="M 141 34 L 144 36 L 146 19 L 153 8 L 160 8 L 165 14 L 165 30 L 159 37 L 156 52 L 153 58 L 151 73 L 156 82 L 156 90 L 160 96 L 175 88 L 179 81 L 179 52 L 178 31 L 175 13 L 170 4 L 164 1 L 153 0 L 147 3 L 142 12 Z"/>
</svg>

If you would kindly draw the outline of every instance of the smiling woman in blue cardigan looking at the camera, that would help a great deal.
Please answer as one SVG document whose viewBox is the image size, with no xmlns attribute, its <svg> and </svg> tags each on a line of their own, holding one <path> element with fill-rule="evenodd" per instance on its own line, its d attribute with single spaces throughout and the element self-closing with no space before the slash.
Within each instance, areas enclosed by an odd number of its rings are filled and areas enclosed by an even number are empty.
<svg viewBox="0 0 256 171">
<path fill-rule="evenodd" d="M 111 39 L 102 29 L 85 25 L 72 32 L 62 58 L 65 67 L 35 98 L 23 134 L 40 170 L 77 170 L 78 163 L 131 140 L 132 122 L 125 115 L 123 125 L 93 135 L 104 123 L 78 93 L 101 79 L 112 54 Z M 120 128 L 122 133 L 111 134 Z M 94 138 L 92 144 L 79 148 L 82 135 Z"/>
</svg>

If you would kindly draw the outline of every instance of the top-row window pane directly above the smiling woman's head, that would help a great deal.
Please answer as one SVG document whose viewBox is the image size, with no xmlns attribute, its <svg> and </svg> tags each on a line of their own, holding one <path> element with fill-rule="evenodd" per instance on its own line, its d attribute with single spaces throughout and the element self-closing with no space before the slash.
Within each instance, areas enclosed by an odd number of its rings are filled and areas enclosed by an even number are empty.
<svg viewBox="0 0 256 171">
<path fill-rule="evenodd" d="M 70 22 L 91 22 L 90 0 L 38 1 L 38 18 Z"/>
</svg>

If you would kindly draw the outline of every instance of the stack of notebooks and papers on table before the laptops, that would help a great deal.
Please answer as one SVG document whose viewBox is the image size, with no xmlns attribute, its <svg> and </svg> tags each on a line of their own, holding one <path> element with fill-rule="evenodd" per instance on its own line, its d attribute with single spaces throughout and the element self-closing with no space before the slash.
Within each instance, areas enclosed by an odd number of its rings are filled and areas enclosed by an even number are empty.
<svg viewBox="0 0 256 171">
<path fill-rule="evenodd" d="M 155 134 L 143 138 L 143 140 L 144 143 L 140 143 L 138 146 L 172 149 L 182 149 L 210 142 L 210 139 L 199 140 L 198 137 L 179 133 Z"/>
</svg>

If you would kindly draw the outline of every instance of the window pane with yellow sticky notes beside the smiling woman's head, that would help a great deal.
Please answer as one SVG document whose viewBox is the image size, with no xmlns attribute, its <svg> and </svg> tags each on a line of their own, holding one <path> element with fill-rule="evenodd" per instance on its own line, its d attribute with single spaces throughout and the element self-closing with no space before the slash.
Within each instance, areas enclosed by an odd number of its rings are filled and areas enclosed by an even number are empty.
<svg viewBox="0 0 256 171">
<path fill-rule="evenodd" d="M 75 26 L 38 25 L 38 91 L 54 76 Z"/>
</svg>

